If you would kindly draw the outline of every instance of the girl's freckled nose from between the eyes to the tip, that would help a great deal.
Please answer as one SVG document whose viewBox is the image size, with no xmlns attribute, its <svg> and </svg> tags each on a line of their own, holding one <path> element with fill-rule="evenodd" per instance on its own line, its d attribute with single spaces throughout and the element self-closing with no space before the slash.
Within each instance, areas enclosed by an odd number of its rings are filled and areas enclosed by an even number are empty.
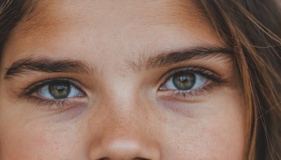
<svg viewBox="0 0 281 160">
<path fill-rule="evenodd" d="M 147 111 L 134 96 L 119 93 L 110 100 L 101 100 L 103 116 L 98 121 L 102 125 L 92 126 L 98 132 L 92 135 L 91 159 L 159 159 L 159 147 L 152 136 Z"/>
</svg>

